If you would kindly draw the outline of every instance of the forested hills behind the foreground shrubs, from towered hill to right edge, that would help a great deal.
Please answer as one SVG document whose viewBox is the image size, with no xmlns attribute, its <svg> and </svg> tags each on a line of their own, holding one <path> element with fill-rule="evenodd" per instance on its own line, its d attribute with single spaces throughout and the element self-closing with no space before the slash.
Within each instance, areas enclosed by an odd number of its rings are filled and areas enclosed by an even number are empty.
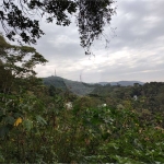
<svg viewBox="0 0 164 164">
<path fill-rule="evenodd" d="M 150 112 L 164 110 L 164 82 L 137 83 L 126 82 L 130 84 L 122 86 L 117 83 L 107 84 L 87 84 L 75 82 L 60 77 L 44 78 L 44 83 L 48 86 L 61 89 L 79 96 L 90 96 L 102 99 L 102 102 L 117 106 L 125 102 L 132 102 L 138 110 L 149 109 Z M 114 85 L 113 85 L 114 84 Z M 124 83 L 125 84 L 125 83 Z M 133 85 L 132 85 L 133 84 Z"/>
</svg>

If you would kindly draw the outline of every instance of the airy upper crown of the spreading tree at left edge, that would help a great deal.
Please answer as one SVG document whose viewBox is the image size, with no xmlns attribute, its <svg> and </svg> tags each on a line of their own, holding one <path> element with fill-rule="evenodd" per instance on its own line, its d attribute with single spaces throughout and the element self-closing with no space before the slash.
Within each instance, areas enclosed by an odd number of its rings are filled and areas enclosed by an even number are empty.
<svg viewBox="0 0 164 164">
<path fill-rule="evenodd" d="M 0 35 L 0 60 L 3 62 L 3 68 L 10 70 L 13 77 L 35 75 L 35 66 L 47 62 L 35 48 L 10 45 L 2 35 Z"/>
</svg>

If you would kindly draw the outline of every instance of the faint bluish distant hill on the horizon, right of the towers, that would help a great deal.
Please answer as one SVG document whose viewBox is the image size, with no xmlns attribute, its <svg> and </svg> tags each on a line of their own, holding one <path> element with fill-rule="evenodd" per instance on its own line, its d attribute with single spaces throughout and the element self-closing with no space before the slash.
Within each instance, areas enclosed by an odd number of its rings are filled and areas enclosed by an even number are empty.
<svg viewBox="0 0 164 164">
<path fill-rule="evenodd" d="M 110 85 L 121 85 L 121 86 L 132 86 L 134 83 L 139 83 L 141 85 L 143 85 L 143 82 L 140 81 L 118 81 L 118 82 L 99 82 L 98 84 L 101 85 L 106 85 L 106 84 L 110 84 Z"/>
</svg>

